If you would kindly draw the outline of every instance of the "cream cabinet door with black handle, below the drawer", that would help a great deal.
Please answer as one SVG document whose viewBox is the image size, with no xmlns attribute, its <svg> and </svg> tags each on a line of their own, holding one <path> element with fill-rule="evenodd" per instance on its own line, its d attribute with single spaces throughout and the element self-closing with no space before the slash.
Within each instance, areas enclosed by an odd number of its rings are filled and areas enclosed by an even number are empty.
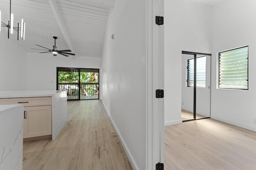
<svg viewBox="0 0 256 170">
<path fill-rule="evenodd" d="M 52 134 L 52 106 L 24 107 L 23 138 Z"/>
</svg>

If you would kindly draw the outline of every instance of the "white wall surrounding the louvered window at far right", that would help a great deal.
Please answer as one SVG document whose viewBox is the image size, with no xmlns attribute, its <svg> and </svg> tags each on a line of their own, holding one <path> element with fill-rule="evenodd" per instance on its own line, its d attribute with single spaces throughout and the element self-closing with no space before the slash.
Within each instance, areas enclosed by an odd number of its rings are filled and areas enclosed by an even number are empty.
<svg viewBox="0 0 256 170">
<path fill-rule="evenodd" d="M 212 118 L 256 131 L 256 1 L 225 0 L 212 8 Z M 217 52 L 249 45 L 249 90 L 216 89 Z"/>
</svg>

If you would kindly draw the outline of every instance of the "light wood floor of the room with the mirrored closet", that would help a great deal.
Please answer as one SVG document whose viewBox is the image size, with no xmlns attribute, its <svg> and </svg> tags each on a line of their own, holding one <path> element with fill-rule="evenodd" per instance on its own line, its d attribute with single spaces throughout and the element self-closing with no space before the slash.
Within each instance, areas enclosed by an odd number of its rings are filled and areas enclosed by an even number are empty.
<svg viewBox="0 0 256 170">
<path fill-rule="evenodd" d="M 214 119 L 165 127 L 165 170 L 256 170 L 256 132 Z"/>
</svg>

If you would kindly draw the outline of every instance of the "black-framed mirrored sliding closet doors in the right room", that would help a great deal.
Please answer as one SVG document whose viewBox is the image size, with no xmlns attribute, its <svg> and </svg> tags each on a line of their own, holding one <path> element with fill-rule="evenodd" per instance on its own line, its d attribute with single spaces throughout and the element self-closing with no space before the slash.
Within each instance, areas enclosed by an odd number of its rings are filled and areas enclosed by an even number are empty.
<svg viewBox="0 0 256 170">
<path fill-rule="evenodd" d="M 182 51 L 182 122 L 210 118 L 211 54 Z"/>
</svg>

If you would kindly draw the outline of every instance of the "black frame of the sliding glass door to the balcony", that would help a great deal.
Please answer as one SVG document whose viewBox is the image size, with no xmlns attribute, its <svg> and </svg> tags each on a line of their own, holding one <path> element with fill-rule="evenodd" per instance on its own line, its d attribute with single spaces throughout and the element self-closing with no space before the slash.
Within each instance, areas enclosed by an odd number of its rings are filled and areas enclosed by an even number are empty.
<svg viewBox="0 0 256 170">
<path fill-rule="evenodd" d="M 98 72 L 98 99 L 82 99 L 82 100 L 99 100 L 100 99 L 100 69 L 98 69 L 98 68 L 57 67 L 56 68 L 56 90 L 59 90 L 58 72 L 60 72 L 60 70 L 70 70 L 70 72 L 72 72 L 71 70 L 76 70 L 76 72 L 78 72 L 78 76 L 79 76 L 79 78 L 78 78 L 78 99 L 68 99 L 68 100 L 81 100 L 81 98 L 80 98 L 81 70 L 97 70 L 97 72 Z"/>
</svg>

